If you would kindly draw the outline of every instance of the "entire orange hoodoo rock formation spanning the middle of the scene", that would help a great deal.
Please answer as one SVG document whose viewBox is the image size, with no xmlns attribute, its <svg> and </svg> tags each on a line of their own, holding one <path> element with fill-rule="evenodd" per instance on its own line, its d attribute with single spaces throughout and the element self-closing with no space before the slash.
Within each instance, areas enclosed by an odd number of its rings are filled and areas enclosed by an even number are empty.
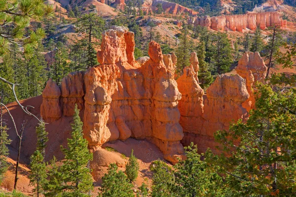
<svg viewBox="0 0 296 197">
<path fill-rule="evenodd" d="M 183 146 L 194 142 L 200 152 L 215 149 L 214 133 L 228 130 L 232 121 L 246 120 L 254 108 L 252 85 L 262 81 L 266 66 L 259 53 L 248 52 L 233 76 L 219 75 L 206 95 L 198 84 L 198 58 L 174 79 L 177 57 L 163 55 L 149 43 L 149 57 L 134 58 L 134 33 L 113 26 L 102 35 L 99 66 L 70 73 L 58 87 L 51 79 L 43 91 L 41 116 L 53 122 L 74 114 L 83 116 L 83 133 L 94 152 L 104 143 L 133 137 L 148 139 L 175 163 Z"/>
</svg>

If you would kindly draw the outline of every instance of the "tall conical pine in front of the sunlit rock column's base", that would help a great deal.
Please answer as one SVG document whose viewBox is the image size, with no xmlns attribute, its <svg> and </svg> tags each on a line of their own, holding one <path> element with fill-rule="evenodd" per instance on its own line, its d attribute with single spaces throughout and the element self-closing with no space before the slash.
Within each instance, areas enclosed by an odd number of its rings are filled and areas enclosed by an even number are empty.
<svg viewBox="0 0 296 197">
<path fill-rule="evenodd" d="M 77 105 L 73 119 L 72 138 L 68 139 L 68 148 L 61 147 L 65 154 L 65 161 L 61 166 L 63 196 L 84 197 L 93 187 L 92 176 L 87 167 L 92 160 L 92 153 L 87 148 L 87 140 L 83 138 L 83 123 Z"/>
</svg>

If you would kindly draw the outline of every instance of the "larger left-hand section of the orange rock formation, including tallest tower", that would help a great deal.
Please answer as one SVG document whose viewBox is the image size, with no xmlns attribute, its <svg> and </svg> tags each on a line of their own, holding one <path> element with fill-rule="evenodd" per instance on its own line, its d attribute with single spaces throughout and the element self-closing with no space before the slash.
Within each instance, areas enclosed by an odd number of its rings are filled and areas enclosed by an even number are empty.
<svg viewBox="0 0 296 197">
<path fill-rule="evenodd" d="M 83 110 L 83 132 L 90 147 L 130 136 L 148 139 L 174 163 L 183 155 L 180 140 L 184 136 L 178 110 L 182 95 L 174 80 L 176 56 L 163 56 L 160 45 L 152 41 L 149 58 L 140 65 L 134 48 L 134 33 L 126 28 L 114 26 L 105 31 L 97 53 L 100 65 L 69 74 L 60 93 L 49 80 L 42 105 L 53 98 L 56 108 L 62 108 L 53 115 L 51 110 L 43 110 L 41 116 L 47 122 L 57 120 L 61 113 L 72 116 L 76 103 Z"/>
</svg>

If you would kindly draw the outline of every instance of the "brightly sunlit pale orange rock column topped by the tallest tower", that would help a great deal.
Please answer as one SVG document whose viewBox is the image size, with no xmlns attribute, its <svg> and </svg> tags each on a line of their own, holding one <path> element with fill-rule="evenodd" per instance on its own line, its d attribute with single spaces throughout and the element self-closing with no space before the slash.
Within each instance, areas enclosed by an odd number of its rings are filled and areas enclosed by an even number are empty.
<svg viewBox="0 0 296 197">
<path fill-rule="evenodd" d="M 102 35 L 101 50 L 97 53 L 99 66 L 89 68 L 84 75 L 85 110 L 83 117 L 84 137 L 90 146 L 102 145 L 119 137 L 118 130 L 107 127 L 110 114 L 111 96 L 117 87 L 116 78 L 120 71 L 117 63 L 123 56 L 121 45 L 124 30 L 105 31 Z"/>
</svg>

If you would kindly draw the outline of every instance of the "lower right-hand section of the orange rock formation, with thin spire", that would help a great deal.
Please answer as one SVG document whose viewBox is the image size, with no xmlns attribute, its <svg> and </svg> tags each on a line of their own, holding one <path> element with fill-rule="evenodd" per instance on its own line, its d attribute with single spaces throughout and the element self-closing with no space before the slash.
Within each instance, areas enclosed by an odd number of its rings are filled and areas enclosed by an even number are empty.
<svg viewBox="0 0 296 197">
<path fill-rule="evenodd" d="M 247 52 L 239 60 L 237 74 L 219 75 L 207 89 L 206 95 L 196 80 L 194 67 L 198 65 L 191 54 L 191 66 L 185 67 L 184 74 L 177 80 L 182 93 L 178 108 L 181 113 L 180 124 L 184 131 L 182 143 L 194 142 L 200 152 L 218 146 L 214 133 L 228 130 L 232 122 L 247 120 L 248 111 L 254 109 L 255 98 L 252 88 L 254 82 L 264 83 L 266 66 L 259 53 Z"/>
</svg>

